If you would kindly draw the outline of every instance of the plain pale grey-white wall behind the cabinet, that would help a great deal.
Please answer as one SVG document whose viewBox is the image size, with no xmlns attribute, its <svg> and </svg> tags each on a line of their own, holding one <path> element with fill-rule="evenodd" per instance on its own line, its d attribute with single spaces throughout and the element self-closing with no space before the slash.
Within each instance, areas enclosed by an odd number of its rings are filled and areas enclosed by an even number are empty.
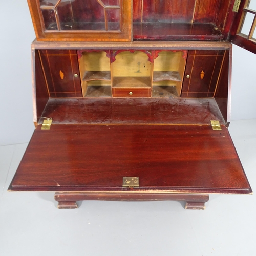
<svg viewBox="0 0 256 256">
<path fill-rule="evenodd" d="M 33 130 L 27 1 L 0 0 L 0 146 L 28 142 Z M 233 46 L 231 120 L 256 118 L 256 55 Z"/>
</svg>

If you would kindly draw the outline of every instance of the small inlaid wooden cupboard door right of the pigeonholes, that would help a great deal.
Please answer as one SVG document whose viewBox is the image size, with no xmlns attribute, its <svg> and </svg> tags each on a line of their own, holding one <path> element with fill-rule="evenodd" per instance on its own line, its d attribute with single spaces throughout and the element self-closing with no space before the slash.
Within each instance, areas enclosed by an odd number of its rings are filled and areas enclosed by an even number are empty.
<svg viewBox="0 0 256 256">
<path fill-rule="evenodd" d="M 224 53 L 224 50 L 188 51 L 181 97 L 214 97 Z"/>
</svg>

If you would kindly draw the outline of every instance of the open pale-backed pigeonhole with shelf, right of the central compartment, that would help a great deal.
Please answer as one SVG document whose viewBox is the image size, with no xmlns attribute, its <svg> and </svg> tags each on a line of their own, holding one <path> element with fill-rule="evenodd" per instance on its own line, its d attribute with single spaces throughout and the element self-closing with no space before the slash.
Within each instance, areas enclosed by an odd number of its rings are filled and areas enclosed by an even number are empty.
<svg viewBox="0 0 256 256">
<path fill-rule="evenodd" d="M 154 51 L 152 97 L 179 97 L 187 51 Z"/>
</svg>

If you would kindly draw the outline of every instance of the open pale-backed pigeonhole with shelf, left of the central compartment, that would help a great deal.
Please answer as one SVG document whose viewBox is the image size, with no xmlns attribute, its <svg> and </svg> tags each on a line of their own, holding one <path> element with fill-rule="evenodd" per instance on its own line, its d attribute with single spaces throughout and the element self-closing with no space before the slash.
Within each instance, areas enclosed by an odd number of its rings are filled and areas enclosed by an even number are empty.
<svg viewBox="0 0 256 256">
<path fill-rule="evenodd" d="M 83 51 L 78 54 L 83 97 L 112 96 L 108 54 L 109 51 Z"/>
</svg>

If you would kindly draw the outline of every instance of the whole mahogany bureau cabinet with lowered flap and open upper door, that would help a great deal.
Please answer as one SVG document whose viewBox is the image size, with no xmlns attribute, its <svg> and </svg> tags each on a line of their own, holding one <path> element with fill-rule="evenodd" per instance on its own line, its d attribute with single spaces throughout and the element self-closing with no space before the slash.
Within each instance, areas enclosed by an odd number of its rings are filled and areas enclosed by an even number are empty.
<svg viewBox="0 0 256 256">
<path fill-rule="evenodd" d="M 59 208 L 251 194 L 227 128 L 230 42 L 256 52 L 255 2 L 28 0 L 36 129 L 9 190 Z"/>
</svg>

